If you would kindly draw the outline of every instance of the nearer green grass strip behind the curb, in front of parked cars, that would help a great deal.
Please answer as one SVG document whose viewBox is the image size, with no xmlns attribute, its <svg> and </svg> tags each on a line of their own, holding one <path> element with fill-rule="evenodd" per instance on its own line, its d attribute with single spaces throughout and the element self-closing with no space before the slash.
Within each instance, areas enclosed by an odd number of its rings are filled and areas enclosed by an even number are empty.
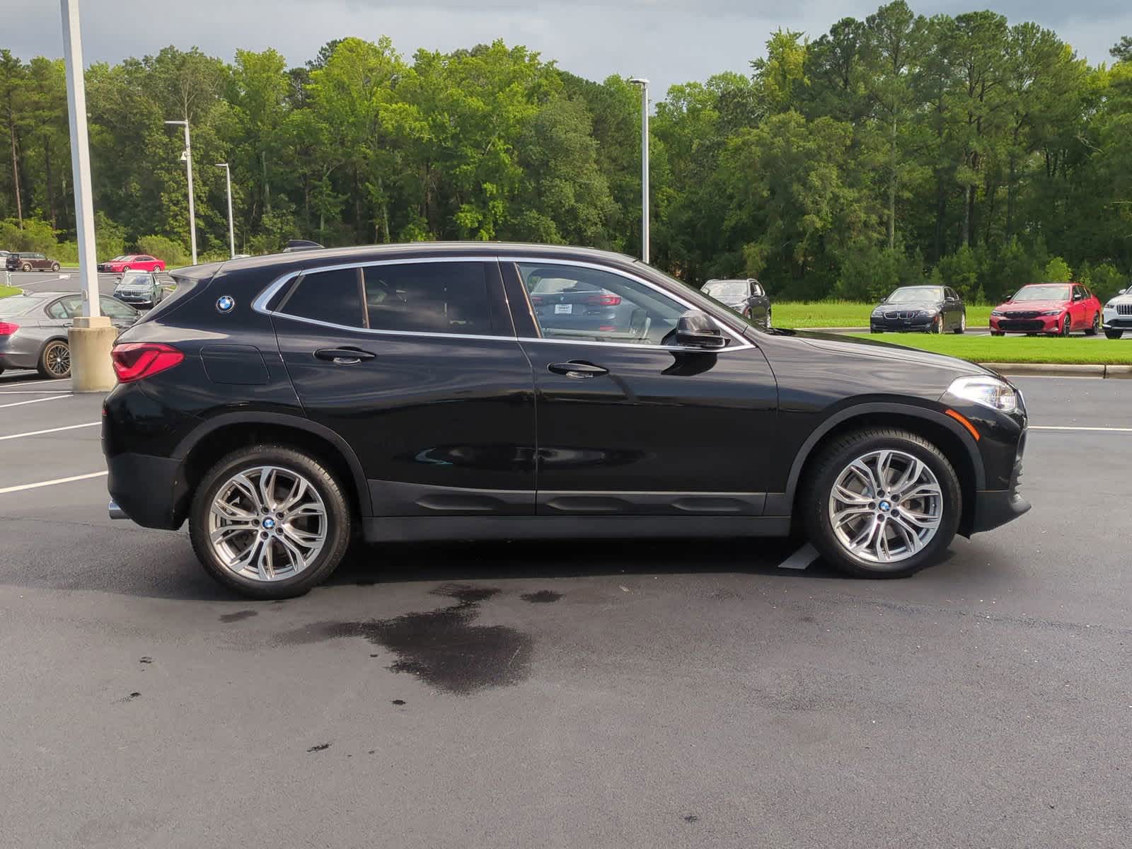
<svg viewBox="0 0 1132 849">
<path fill-rule="evenodd" d="M 1132 365 L 1132 338 L 1070 336 L 931 336 L 919 333 L 857 334 L 908 348 L 961 357 L 974 362 L 1052 362 Z"/>
</svg>

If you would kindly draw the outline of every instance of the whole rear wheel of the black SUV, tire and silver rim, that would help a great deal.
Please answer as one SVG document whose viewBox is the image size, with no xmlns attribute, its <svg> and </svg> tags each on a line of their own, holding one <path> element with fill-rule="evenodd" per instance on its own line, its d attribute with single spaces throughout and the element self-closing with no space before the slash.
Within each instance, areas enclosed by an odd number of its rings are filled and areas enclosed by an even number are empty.
<svg viewBox="0 0 1132 849">
<path fill-rule="evenodd" d="M 342 483 L 283 445 L 240 448 L 197 486 L 189 538 L 205 571 L 254 599 L 301 595 L 342 561 L 352 517 Z"/>
</svg>

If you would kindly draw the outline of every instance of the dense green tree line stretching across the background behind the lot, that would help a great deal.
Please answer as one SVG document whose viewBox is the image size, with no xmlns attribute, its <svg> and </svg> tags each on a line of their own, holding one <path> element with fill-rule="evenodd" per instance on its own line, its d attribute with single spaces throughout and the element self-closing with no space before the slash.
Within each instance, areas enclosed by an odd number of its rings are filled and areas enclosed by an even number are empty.
<svg viewBox="0 0 1132 849">
<path fill-rule="evenodd" d="M 990 11 L 903 0 L 808 38 L 779 29 L 751 74 L 674 85 L 651 121 L 652 259 L 689 284 L 755 276 L 778 298 L 875 298 L 934 281 L 972 300 L 1132 273 L 1132 38 L 1090 66 Z M 204 258 L 431 239 L 640 250 L 640 95 L 503 42 L 405 59 L 381 37 L 194 48 L 86 74 L 100 257 L 185 261 L 180 128 L 192 129 Z M 0 51 L 0 247 L 70 258 L 61 60 Z"/>
</svg>

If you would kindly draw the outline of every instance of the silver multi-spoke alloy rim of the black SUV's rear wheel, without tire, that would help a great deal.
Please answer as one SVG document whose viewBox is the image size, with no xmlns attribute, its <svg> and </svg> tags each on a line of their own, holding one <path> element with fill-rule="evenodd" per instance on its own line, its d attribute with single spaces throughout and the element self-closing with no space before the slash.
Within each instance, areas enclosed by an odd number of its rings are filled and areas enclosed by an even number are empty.
<svg viewBox="0 0 1132 849">
<path fill-rule="evenodd" d="M 301 474 L 274 465 L 229 478 L 208 511 L 208 544 L 234 574 L 281 581 L 308 568 L 326 543 L 321 496 Z"/>
</svg>

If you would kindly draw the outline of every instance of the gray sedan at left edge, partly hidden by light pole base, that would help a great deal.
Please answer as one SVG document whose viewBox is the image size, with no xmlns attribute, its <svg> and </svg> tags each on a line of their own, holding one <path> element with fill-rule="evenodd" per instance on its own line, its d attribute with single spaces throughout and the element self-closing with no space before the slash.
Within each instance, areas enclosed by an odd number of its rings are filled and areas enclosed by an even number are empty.
<svg viewBox="0 0 1132 849">
<path fill-rule="evenodd" d="M 140 315 L 127 303 L 100 295 L 102 315 L 123 331 Z M 26 292 L 0 298 L 0 371 L 37 369 L 45 378 L 70 377 L 67 328 L 83 315 L 76 292 Z"/>
</svg>

